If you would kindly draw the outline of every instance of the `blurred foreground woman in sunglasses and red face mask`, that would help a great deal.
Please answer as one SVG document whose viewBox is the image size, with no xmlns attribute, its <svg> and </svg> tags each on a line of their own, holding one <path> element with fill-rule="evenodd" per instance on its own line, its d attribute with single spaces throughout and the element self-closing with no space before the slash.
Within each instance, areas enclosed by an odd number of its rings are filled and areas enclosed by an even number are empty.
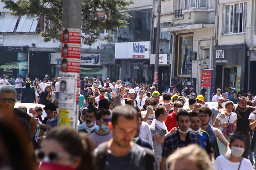
<svg viewBox="0 0 256 170">
<path fill-rule="evenodd" d="M 47 133 L 35 157 L 41 162 L 39 170 L 95 170 L 93 143 L 70 128 L 53 129 Z"/>
</svg>

